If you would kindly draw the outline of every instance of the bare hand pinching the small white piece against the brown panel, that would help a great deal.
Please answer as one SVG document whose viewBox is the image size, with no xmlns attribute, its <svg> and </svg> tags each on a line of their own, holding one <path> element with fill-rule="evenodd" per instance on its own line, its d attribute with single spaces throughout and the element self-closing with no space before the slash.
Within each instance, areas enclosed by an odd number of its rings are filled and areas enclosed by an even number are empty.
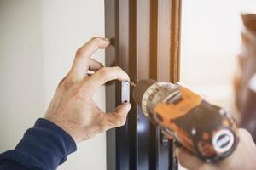
<svg viewBox="0 0 256 170">
<path fill-rule="evenodd" d="M 92 95 L 108 81 L 129 81 L 119 67 L 102 67 L 90 56 L 98 48 L 108 48 L 106 38 L 94 37 L 79 48 L 71 70 L 59 83 L 55 96 L 44 116 L 64 129 L 76 142 L 90 139 L 97 133 L 125 124 L 131 104 L 119 105 L 115 111 L 104 113 L 93 101 Z M 95 71 L 90 77 L 87 71 Z"/>
</svg>

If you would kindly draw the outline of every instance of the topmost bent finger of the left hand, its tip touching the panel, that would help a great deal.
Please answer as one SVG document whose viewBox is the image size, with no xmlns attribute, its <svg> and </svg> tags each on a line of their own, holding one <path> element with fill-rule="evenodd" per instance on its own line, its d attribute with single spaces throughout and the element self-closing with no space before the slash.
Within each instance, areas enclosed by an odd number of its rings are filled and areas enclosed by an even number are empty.
<svg viewBox="0 0 256 170">
<path fill-rule="evenodd" d="M 79 80 L 83 80 L 90 66 L 90 56 L 98 48 L 107 48 L 109 44 L 108 39 L 103 37 L 93 37 L 89 42 L 86 42 L 78 49 L 69 74 Z"/>
</svg>

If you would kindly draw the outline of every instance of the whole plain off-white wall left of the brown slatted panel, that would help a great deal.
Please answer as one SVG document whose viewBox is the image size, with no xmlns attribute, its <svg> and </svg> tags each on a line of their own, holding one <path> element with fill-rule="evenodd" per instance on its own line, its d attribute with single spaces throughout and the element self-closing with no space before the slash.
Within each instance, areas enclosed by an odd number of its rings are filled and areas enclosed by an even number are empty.
<svg viewBox="0 0 256 170">
<path fill-rule="evenodd" d="M 0 0 L 0 151 L 44 116 L 75 50 L 104 36 L 103 0 Z M 104 63 L 104 52 L 96 59 Z M 105 110 L 104 88 L 95 95 Z M 78 145 L 59 169 L 106 169 L 105 133 Z"/>
</svg>

